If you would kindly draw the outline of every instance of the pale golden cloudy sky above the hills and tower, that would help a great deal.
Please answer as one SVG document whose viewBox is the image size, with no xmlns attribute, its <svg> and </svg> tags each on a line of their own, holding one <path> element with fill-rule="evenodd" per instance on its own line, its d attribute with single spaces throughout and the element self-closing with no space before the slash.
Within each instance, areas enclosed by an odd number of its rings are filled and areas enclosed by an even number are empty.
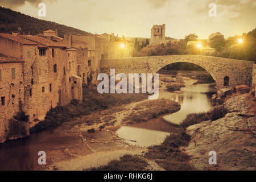
<svg viewBox="0 0 256 182">
<path fill-rule="evenodd" d="M 46 17 L 38 4 L 46 4 Z M 208 15 L 210 3 L 216 17 Z M 225 38 L 256 27 L 256 0 L 0 0 L 0 6 L 35 18 L 102 34 L 150 38 L 154 24 L 166 24 L 166 36 L 181 39 L 195 33 L 204 39 L 214 32 Z"/>
</svg>

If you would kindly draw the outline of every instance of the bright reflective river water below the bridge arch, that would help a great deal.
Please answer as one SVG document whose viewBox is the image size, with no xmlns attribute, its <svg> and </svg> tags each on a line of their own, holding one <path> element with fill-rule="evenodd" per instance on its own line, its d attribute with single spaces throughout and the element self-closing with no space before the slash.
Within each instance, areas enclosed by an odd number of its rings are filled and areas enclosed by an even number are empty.
<svg viewBox="0 0 256 182">
<path fill-rule="evenodd" d="M 174 94 L 164 89 L 159 90 L 159 99 L 165 98 L 178 102 L 181 106 L 179 111 L 164 115 L 163 118 L 151 119 L 146 123 L 121 126 L 116 131 L 118 137 L 138 146 L 160 144 L 170 133 L 175 133 L 175 125 L 179 125 L 187 117 L 187 114 L 210 110 L 212 105 L 208 93 L 216 91 L 214 84 L 193 85 L 196 80 L 191 79 L 184 80 L 184 82 L 186 86 L 181 88 L 181 93 Z"/>
</svg>

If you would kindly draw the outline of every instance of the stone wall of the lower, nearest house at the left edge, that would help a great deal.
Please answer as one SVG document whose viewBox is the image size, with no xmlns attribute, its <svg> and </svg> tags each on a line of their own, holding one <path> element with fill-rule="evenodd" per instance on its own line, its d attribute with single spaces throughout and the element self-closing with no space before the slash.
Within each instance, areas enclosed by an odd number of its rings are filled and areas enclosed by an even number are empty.
<svg viewBox="0 0 256 182">
<path fill-rule="evenodd" d="M 15 68 L 15 79 L 12 79 L 12 68 Z M 24 105 L 23 64 L 0 63 L 0 70 L 0 143 L 2 143 L 8 137 L 9 120 L 19 112 L 19 102 Z"/>
</svg>

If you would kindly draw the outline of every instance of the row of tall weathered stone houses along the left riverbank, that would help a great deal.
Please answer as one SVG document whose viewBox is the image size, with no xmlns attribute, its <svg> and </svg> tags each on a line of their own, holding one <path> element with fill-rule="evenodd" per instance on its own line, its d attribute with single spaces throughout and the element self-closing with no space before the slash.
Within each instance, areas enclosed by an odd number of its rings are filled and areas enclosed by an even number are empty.
<svg viewBox="0 0 256 182">
<path fill-rule="evenodd" d="M 32 127 L 52 107 L 82 100 L 76 50 L 42 36 L 0 34 L 0 53 L 0 142 L 10 138 L 9 121 L 18 110 L 28 115 Z M 73 67 L 68 56 L 73 56 Z"/>
</svg>

